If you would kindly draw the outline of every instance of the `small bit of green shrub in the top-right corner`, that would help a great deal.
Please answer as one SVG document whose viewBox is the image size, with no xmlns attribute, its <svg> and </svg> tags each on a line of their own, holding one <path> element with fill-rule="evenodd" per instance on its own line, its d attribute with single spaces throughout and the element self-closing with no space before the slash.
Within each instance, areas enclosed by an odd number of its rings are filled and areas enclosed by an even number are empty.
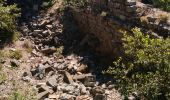
<svg viewBox="0 0 170 100">
<path fill-rule="evenodd" d="M 170 11 L 170 0 L 152 0 L 152 2 L 156 7 Z"/>
</svg>

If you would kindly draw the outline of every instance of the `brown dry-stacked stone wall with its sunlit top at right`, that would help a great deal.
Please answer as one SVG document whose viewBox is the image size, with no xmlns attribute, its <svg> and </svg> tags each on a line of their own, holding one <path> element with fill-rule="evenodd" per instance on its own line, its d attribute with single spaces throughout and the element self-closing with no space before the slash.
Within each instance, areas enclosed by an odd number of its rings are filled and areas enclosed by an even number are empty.
<svg viewBox="0 0 170 100">
<path fill-rule="evenodd" d="M 122 31 L 136 26 L 152 36 L 170 35 L 170 13 L 136 0 L 91 0 L 87 9 L 71 11 L 80 30 L 98 38 L 95 49 L 104 55 L 122 54 Z"/>
</svg>

